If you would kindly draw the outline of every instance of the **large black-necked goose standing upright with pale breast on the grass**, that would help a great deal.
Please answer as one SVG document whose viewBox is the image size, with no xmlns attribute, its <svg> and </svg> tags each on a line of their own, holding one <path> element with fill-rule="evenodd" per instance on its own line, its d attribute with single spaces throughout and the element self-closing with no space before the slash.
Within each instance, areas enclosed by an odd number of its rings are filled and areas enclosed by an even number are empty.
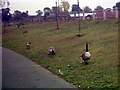
<svg viewBox="0 0 120 90">
<path fill-rule="evenodd" d="M 85 65 L 88 64 L 88 60 L 91 58 L 91 54 L 88 50 L 88 43 L 86 43 L 86 51 L 83 53 L 80 58 L 84 61 Z"/>
</svg>

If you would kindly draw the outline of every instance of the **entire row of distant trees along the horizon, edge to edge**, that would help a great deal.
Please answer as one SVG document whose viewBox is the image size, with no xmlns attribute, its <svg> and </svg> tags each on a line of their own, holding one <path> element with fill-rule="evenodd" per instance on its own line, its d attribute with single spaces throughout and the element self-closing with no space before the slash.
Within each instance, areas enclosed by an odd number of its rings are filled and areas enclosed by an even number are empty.
<svg viewBox="0 0 120 90">
<path fill-rule="evenodd" d="M 120 2 L 116 3 L 116 5 L 113 6 L 113 10 L 115 10 L 116 7 L 120 8 Z M 44 17 L 47 17 L 51 14 L 56 15 L 57 12 L 58 12 L 58 15 L 67 16 L 69 15 L 69 11 L 68 11 L 69 8 L 70 8 L 69 3 L 67 1 L 63 1 L 57 7 L 53 6 L 52 9 L 50 9 L 49 7 L 45 7 L 43 9 L 44 12 L 42 12 L 41 10 L 37 10 L 36 13 L 37 13 L 37 16 L 41 16 L 42 14 L 44 14 Z M 102 10 L 103 10 L 103 7 L 101 6 L 97 6 L 95 8 L 95 11 L 102 11 Z M 107 8 L 106 10 L 109 11 L 110 8 Z M 70 13 L 77 14 L 78 12 L 82 12 L 82 11 L 87 13 L 87 12 L 92 12 L 92 9 L 89 8 L 88 6 L 81 9 L 77 4 L 73 4 Z M 27 16 L 28 16 L 28 11 L 21 12 L 21 11 L 16 10 L 14 11 L 13 14 L 10 14 L 9 8 L 2 9 L 2 21 L 3 22 L 9 21 L 11 17 L 13 17 L 14 21 L 24 20 L 24 18 L 26 18 Z"/>
</svg>

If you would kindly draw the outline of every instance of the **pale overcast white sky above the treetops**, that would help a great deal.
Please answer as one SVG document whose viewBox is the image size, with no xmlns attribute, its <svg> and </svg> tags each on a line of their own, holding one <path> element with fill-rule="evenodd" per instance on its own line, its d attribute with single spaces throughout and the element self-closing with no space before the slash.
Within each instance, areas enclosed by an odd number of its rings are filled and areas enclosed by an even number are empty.
<svg viewBox="0 0 120 90">
<path fill-rule="evenodd" d="M 35 15 L 35 11 L 42 10 L 44 7 L 52 7 L 55 6 L 56 0 L 8 0 L 10 1 L 11 12 L 15 10 L 20 11 L 29 11 L 30 15 Z M 61 0 L 58 0 L 59 2 Z M 77 0 L 67 0 L 69 4 L 77 4 Z M 96 6 L 101 5 L 103 8 L 112 8 L 116 5 L 116 2 L 120 0 L 79 0 L 80 7 L 83 8 L 85 6 L 89 6 L 94 9 Z M 71 9 L 71 8 L 70 8 Z M 69 10 L 70 11 L 70 10 Z"/>
</svg>

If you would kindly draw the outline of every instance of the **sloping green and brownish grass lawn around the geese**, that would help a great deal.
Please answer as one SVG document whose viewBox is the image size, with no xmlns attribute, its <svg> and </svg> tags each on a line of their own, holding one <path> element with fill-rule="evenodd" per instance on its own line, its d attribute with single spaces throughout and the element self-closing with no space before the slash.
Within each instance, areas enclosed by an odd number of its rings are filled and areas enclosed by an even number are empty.
<svg viewBox="0 0 120 90">
<path fill-rule="evenodd" d="M 3 34 L 3 47 L 10 48 L 31 58 L 66 81 L 81 88 L 118 87 L 118 21 L 81 21 L 81 37 L 78 23 L 60 22 L 60 30 L 53 23 L 27 23 L 17 28 L 7 27 Z M 28 30 L 27 34 L 23 34 Z M 27 50 L 26 43 L 32 48 Z M 88 65 L 79 56 L 89 42 L 92 55 Z M 48 56 L 49 47 L 56 50 L 55 56 Z M 70 65 L 70 67 L 68 67 Z M 59 69 L 63 73 L 60 75 Z"/>
</svg>

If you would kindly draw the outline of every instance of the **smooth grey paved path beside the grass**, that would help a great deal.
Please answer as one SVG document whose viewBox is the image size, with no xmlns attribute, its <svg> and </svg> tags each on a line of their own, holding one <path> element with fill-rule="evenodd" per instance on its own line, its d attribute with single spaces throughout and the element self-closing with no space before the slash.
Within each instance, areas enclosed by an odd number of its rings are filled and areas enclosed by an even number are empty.
<svg viewBox="0 0 120 90">
<path fill-rule="evenodd" d="M 76 88 L 26 57 L 3 48 L 3 88 Z"/>
</svg>

